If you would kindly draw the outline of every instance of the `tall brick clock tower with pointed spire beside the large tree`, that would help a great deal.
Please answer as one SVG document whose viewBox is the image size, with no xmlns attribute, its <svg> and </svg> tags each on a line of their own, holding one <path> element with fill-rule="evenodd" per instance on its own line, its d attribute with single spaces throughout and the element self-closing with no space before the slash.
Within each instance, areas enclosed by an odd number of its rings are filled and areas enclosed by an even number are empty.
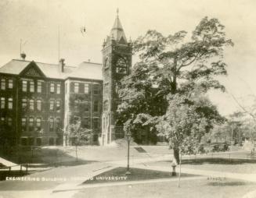
<svg viewBox="0 0 256 198">
<path fill-rule="evenodd" d="M 123 138 L 123 126 L 118 122 L 118 88 L 121 79 L 131 73 L 132 44 L 128 42 L 118 16 L 110 35 L 103 42 L 103 115 L 102 144 L 106 145 L 118 138 Z"/>
</svg>

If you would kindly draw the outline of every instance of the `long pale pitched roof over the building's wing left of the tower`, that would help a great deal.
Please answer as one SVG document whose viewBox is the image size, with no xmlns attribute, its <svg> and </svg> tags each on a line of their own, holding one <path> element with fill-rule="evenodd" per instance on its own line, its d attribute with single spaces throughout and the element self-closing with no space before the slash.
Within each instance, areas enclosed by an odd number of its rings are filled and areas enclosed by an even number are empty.
<svg viewBox="0 0 256 198">
<path fill-rule="evenodd" d="M 31 62 L 33 61 L 13 59 L 0 67 L 0 73 L 19 75 Z M 102 65 L 99 63 L 82 62 L 78 66 L 65 65 L 64 72 L 61 72 L 60 66 L 57 64 L 43 62 L 34 63 L 48 78 L 64 80 L 73 77 L 89 80 L 103 80 Z"/>
</svg>

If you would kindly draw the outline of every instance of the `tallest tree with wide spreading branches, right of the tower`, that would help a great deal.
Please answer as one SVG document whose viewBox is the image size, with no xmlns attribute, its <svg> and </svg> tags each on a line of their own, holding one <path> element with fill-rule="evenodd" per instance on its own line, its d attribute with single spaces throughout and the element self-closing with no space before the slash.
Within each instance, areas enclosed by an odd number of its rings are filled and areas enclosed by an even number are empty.
<svg viewBox="0 0 256 198">
<path fill-rule="evenodd" d="M 134 42 L 134 51 L 140 58 L 135 69 L 142 68 L 141 71 L 145 71 L 150 80 L 145 80 L 143 73 L 133 76 L 136 72 L 132 73 L 133 77 L 128 76 L 123 80 L 121 107 L 126 108 L 120 108 L 120 112 L 126 116 L 123 117 L 124 120 L 136 120 L 141 114 L 146 114 L 144 118 L 155 116 L 145 108 L 135 108 L 136 112 L 133 113 L 134 103 L 138 98 L 144 106 L 153 111 L 155 107 L 145 101 L 149 98 L 151 101 L 151 97 L 160 98 L 160 102 L 168 104 L 171 102 L 168 101 L 168 98 L 171 99 L 168 97 L 169 94 L 186 94 L 194 90 L 194 87 L 200 87 L 203 93 L 211 88 L 224 91 L 225 87 L 215 78 L 227 74 L 226 64 L 222 60 L 223 52 L 225 46 L 233 46 L 233 42 L 225 37 L 224 29 L 218 19 L 204 17 L 193 30 L 190 39 L 184 30 L 167 37 L 157 30 L 149 30 L 145 36 L 139 37 Z M 146 90 L 141 87 L 144 82 L 145 86 L 157 87 L 156 92 L 150 92 L 153 95 L 147 98 Z M 134 90 L 129 90 L 129 87 Z M 159 114 L 164 113 L 159 111 Z M 142 122 L 142 119 L 139 120 Z M 149 123 L 148 120 L 144 122 Z M 175 159 L 178 161 L 178 148 L 174 148 L 174 151 Z"/>
</svg>

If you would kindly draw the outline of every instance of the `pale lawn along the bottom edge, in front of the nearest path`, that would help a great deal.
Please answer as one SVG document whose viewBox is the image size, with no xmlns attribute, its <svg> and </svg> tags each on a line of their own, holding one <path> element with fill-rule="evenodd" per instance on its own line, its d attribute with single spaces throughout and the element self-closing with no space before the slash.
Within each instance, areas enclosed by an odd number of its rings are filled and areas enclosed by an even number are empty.
<svg viewBox="0 0 256 198">
<path fill-rule="evenodd" d="M 145 184 L 134 184 L 124 186 L 105 186 L 97 188 L 82 189 L 74 194 L 74 198 L 117 198 L 117 197 L 177 197 L 177 198 L 241 198 L 244 194 L 253 191 L 256 185 L 251 182 L 243 182 L 234 179 L 215 181 L 208 179 L 182 179 L 181 187 L 178 188 L 177 181 L 155 182 Z"/>
</svg>

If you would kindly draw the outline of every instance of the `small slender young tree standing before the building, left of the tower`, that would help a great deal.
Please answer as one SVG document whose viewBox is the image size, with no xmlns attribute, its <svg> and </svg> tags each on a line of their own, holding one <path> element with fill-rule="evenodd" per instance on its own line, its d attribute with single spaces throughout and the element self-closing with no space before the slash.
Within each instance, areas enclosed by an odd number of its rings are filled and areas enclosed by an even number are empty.
<svg viewBox="0 0 256 198">
<path fill-rule="evenodd" d="M 67 126 L 67 132 L 69 136 L 74 140 L 75 152 L 76 152 L 76 161 L 78 162 L 78 146 L 87 144 L 92 138 L 92 130 L 85 129 L 81 127 L 81 119 L 78 119 L 73 123 Z"/>
</svg>

